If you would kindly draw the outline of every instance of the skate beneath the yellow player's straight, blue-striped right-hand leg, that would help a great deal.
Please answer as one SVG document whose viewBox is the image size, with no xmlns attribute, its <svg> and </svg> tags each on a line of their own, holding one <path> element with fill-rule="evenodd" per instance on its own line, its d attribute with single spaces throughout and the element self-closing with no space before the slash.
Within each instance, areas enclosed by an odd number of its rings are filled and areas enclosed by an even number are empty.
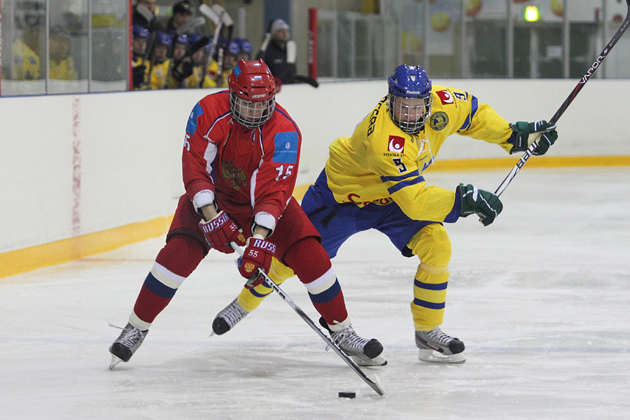
<svg viewBox="0 0 630 420">
<path fill-rule="evenodd" d="M 464 363 L 465 346 L 455 337 L 444 334 L 440 327 L 430 331 L 416 330 L 416 346 L 420 349 L 419 359 L 433 363 Z"/>
</svg>

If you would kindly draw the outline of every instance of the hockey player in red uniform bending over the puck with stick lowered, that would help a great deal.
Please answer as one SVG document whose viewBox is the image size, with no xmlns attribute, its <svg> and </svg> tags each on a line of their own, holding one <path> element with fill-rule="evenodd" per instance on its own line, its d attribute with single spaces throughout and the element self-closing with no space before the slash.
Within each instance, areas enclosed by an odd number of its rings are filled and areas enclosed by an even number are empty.
<svg viewBox="0 0 630 420">
<path fill-rule="evenodd" d="M 350 326 L 344 296 L 317 230 L 291 197 L 302 135 L 275 103 L 275 84 L 261 60 L 240 60 L 229 90 L 209 94 L 188 118 L 182 164 L 186 194 L 179 199 L 166 244 L 137 297 L 129 323 L 110 346 L 110 368 L 127 362 L 184 280 L 214 249 L 245 246 L 239 272 L 246 287 L 262 282 L 272 258 L 306 286 L 331 338 L 358 363 L 385 362 L 377 339 Z M 235 313 L 239 317 L 244 314 Z"/>
</svg>

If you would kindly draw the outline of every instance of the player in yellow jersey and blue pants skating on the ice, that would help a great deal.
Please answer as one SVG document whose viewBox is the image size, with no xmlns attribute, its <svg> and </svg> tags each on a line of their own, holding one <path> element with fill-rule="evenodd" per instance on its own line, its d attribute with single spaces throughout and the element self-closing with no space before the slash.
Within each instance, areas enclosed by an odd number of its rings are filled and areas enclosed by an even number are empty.
<svg viewBox="0 0 630 420">
<path fill-rule="evenodd" d="M 388 78 L 388 94 L 351 137 L 330 145 L 324 170 L 309 187 L 302 209 L 321 234 L 330 258 L 356 232 L 376 229 L 406 257 L 417 255 L 411 310 L 419 358 L 463 363 L 465 346 L 442 332 L 451 242 L 444 223 L 477 214 L 489 225 L 503 209 L 499 198 L 461 183 L 454 189 L 427 186 L 424 172 L 451 134 L 496 144 L 508 153 L 534 141 L 542 155 L 558 137 L 545 121 L 509 124 L 491 106 L 463 90 L 432 85 L 419 66 L 402 64 Z M 293 273 L 274 260 L 269 276 L 280 283 Z M 272 292 L 265 283 L 241 294 L 214 319 L 223 334 Z"/>
</svg>

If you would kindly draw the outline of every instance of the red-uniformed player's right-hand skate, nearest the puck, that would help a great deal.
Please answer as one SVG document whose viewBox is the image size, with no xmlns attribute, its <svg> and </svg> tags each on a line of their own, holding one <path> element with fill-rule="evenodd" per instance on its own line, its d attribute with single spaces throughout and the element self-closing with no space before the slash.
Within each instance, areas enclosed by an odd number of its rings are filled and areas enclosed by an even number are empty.
<svg viewBox="0 0 630 420">
<path fill-rule="evenodd" d="M 360 337 L 350 325 L 340 331 L 331 331 L 324 318 L 319 318 L 319 323 L 330 332 L 332 342 L 337 344 L 357 365 L 384 366 L 387 364 L 387 360 L 381 354 L 383 344 L 379 340 Z"/>
</svg>

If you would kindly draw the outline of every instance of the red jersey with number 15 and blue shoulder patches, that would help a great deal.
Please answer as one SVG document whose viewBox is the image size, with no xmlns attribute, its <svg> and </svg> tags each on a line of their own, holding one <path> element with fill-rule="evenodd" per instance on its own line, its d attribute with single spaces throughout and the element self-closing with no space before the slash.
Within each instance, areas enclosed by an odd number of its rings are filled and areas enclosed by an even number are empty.
<svg viewBox="0 0 630 420">
<path fill-rule="evenodd" d="M 209 94 L 197 102 L 186 126 L 186 193 L 193 200 L 211 190 L 228 214 L 249 210 L 252 220 L 262 212 L 277 221 L 295 187 L 301 145 L 300 130 L 278 104 L 265 124 L 248 129 L 232 119 L 227 90 Z"/>
</svg>

